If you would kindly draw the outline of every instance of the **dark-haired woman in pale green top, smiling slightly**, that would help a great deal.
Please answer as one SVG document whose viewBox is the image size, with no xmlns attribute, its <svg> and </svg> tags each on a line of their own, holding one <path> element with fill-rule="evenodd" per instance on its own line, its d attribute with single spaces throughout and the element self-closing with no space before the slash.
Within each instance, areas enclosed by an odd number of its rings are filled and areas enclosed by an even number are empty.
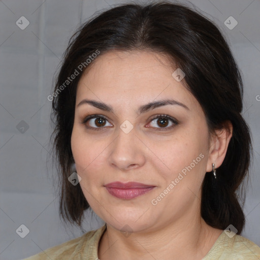
<svg viewBox="0 0 260 260">
<path fill-rule="evenodd" d="M 240 236 L 242 94 L 219 29 L 184 5 L 122 5 L 84 24 L 48 97 L 60 213 L 81 225 L 91 207 L 106 224 L 28 259 L 259 259 Z"/>
</svg>

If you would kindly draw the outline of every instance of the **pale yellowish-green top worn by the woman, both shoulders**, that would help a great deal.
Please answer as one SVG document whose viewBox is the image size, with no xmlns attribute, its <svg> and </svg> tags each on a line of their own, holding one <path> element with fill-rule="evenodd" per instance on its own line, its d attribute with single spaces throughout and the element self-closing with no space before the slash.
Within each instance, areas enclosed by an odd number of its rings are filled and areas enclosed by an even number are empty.
<svg viewBox="0 0 260 260">
<path fill-rule="evenodd" d="M 54 246 L 25 260 L 97 260 L 99 242 L 106 231 L 106 224 L 100 229 Z M 202 260 L 260 260 L 260 247 L 252 241 L 223 231 Z"/>
</svg>

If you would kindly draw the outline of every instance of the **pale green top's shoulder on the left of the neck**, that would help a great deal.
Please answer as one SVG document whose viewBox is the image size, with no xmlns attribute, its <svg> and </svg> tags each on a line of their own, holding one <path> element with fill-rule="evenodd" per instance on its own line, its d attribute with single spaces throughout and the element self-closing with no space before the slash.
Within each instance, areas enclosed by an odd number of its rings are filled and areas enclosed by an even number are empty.
<svg viewBox="0 0 260 260">
<path fill-rule="evenodd" d="M 56 260 L 56 259 L 81 259 L 82 256 L 95 256 L 98 254 L 98 245 L 101 236 L 106 230 L 106 225 L 100 229 L 89 231 L 83 236 L 62 243 L 60 245 L 43 250 L 42 252 L 30 256 L 24 260 Z M 97 258 L 98 256 L 96 256 Z"/>
</svg>

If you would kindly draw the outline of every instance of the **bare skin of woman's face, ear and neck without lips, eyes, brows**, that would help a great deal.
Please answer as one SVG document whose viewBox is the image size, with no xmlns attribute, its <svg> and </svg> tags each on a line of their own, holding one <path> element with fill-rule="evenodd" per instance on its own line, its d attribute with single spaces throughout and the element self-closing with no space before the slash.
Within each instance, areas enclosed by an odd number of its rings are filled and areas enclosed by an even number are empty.
<svg viewBox="0 0 260 260">
<path fill-rule="evenodd" d="M 202 259 L 222 232 L 200 215 L 201 188 L 205 174 L 212 174 L 206 173 L 212 171 L 212 163 L 216 169 L 222 164 L 232 124 L 211 136 L 200 104 L 182 81 L 173 78 L 174 71 L 161 54 L 110 51 L 96 58 L 79 81 L 71 146 L 84 196 L 107 223 L 99 247 L 102 260 Z M 78 107 L 84 99 L 106 103 L 114 112 L 89 104 Z M 140 115 L 136 112 L 142 105 L 166 99 L 188 109 L 167 105 Z M 94 123 L 96 118 L 82 123 L 94 114 L 107 119 L 102 129 L 87 128 L 101 127 Z M 158 119 L 151 120 L 161 114 L 178 124 L 167 120 L 163 127 Z M 120 128 L 125 120 L 133 125 L 128 134 Z M 151 201 L 200 154 L 204 156 L 192 170 L 182 174 L 179 183 L 153 205 Z M 123 200 L 104 187 L 114 181 L 136 181 L 155 188 Z"/>
</svg>

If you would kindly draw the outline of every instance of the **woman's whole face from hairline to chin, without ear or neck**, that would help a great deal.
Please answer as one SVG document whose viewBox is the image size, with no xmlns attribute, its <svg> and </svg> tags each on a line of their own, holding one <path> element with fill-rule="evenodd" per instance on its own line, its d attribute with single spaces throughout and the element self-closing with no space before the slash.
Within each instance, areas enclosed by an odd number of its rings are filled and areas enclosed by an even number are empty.
<svg viewBox="0 0 260 260">
<path fill-rule="evenodd" d="M 151 231 L 200 214 L 209 131 L 174 71 L 161 54 L 110 51 L 79 81 L 71 147 L 80 186 L 117 230 Z"/>
</svg>

